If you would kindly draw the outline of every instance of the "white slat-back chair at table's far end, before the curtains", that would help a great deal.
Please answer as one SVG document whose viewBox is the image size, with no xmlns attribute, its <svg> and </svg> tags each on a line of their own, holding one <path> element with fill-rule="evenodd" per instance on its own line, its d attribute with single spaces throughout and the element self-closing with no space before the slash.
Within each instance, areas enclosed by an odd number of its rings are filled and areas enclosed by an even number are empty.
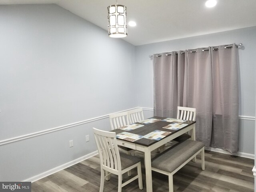
<svg viewBox="0 0 256 192">
<path fill-rule="evenodd" d="M 196 108 L 178 106 L 177 119 L 190 121 L 196 120 Z M 182 142 L 190 138 L 191 136 L 189 134 L 184 133 L 181 136 L 175 138 L 174 141 Z"/>
</svg>

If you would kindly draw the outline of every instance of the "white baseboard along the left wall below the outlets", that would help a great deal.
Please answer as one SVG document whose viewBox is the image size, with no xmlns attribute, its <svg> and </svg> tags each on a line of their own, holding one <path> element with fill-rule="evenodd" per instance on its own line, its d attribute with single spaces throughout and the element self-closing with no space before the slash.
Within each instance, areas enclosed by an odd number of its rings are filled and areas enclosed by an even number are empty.
<svg viewBox="0 0 256 192">
<path fill-rule="evenodd" d="M 90 154 L 87 154 L 85 156 L 82 156 L 80 158 L 72 160 L 70 162 L 67 162 L 67 163 L 65 163 L 63 165 L 60 165 L 60 166 L 55 167 L 53 169 L 50 169 L 50 170 L 48 170 L 46 172 L 40 173 L 40 174 L 38 174 L 36 176 L 33 176 L 31 178 L 28 178 L 28 179 L 24 180 L 23 182 L 26 182 L 26 181 L 28 181 L 28 182 L 35 182 L 35 181 L 40 180 L 40 179 L 42 179 L 44 177 L 47 177 L 47 176 L 49 176 L 51 174 L 54 174 L 54 173 L 56 173 L 56 172 L 58 172 L 60 170 L 66 169 L 66 168 L 68 168 L 68 167 L 70 167 L 70 166 L 72 166 L 74 164 L 77 164 L 77 163 L 79 163 L 79 162 L 81 162 L 83 160 L 86 160 L 86 159 L 88 159 L 88 158 L 90 158 L 90 157 L 92 157 L 92 156 L 94 156 L 96 154 L 98 154 L 98 151 L 94 151 L 94 152 L 92 152 Z"/>
</svg>

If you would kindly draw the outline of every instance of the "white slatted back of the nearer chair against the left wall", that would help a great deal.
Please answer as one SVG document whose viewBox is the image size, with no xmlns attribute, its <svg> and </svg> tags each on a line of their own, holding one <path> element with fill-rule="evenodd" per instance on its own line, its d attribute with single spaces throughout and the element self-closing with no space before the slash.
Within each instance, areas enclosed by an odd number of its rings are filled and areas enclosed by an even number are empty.
<svg viewBox="0 0 256 192">
<path fill-rule="evenodd" d="M 125 111 L 125 112 L 110 114 L 109 121 L 110 121 L 111 130 L 125 126 L 129 124 L 128 112 Z"/>
</svg>

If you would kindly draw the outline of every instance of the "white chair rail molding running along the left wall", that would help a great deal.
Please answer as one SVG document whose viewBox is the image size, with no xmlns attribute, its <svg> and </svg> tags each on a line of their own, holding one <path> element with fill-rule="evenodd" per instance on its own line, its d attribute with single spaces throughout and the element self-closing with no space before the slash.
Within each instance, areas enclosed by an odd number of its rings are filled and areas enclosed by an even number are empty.
<svg viewBox="0 0 256 192">
<path fill-rule="evenodd" d="M 137 107 L 127 109 L 127 110 L 132 110 L 132 109 L 136 109 L 136 108 Z M 127 111 L 127 110 L 122 110 L 122 111 L 119 111 L 119 112 L 124 112 L 124 111 Z M 115 113 L 119 113 L 119 112 L 115 112 Z M 28 139 L 28 138 L 32 138 L 32 137 L 36 137 L 36 136 L 40 136 L 40 135 L 44 135 L 44 134 L 48 134 L 48 133 L 51 133 L 51 132 L 64 130 L 64 129 L 67 129 L 67 128 L 75 127 L 75 126 L 86 124 L 86 123 L 89 123 L 89 122 L 98 121 L 98 120 L 101 120 L 101 119 L 104 119 L 104 118 L 108 118 L 109 115 L 110 114 L 106 114 L 106 115 L 103 115 L 103 116 L 98 116 L 98 117 L 95 117 L 95 118 L 90 118 L 90 119 L 87 119 L 87 120 L 83 120 L 83 121 L 79 121 L 79 122 L 75 122 L 75 123 L 71 123 L 71 124 L 67 124 L 67 125 L 63 125 L 63 126 L 59 126 L 59 127 L 55 127 L 55 128 L 50 128 L 50 129 L 46 129 L 46 130 L 42 130 L 42 131 L 30 133 L 30 134 L 24 134 L 24 135 L 21 135 L 21 136 L 8 138 L 8 139 L 5 139 L 5 140 L 0 140 L 0 146 L 5 145 L 5 144 L 9 144 L 9 143 L 12 143 L 12 142 L 16 142 L 16 141 L 20 141 L 20 140 L 24 140 L 24 139 Z"/>
</svg>

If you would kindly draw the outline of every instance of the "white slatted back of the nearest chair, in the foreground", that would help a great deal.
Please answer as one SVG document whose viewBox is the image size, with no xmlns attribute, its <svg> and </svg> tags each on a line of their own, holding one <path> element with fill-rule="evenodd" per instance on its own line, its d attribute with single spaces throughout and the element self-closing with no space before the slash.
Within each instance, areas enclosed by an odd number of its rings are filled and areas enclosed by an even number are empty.
<svg viewBox="0 0 256 192">
<path fill-rule="evenodd" d="M 121 160 L 116 144 L 116 133 L 93 128 L 94 137 L 100 155 L 100 164 L 106 170 L 121 170 Z"/>
</svg>

